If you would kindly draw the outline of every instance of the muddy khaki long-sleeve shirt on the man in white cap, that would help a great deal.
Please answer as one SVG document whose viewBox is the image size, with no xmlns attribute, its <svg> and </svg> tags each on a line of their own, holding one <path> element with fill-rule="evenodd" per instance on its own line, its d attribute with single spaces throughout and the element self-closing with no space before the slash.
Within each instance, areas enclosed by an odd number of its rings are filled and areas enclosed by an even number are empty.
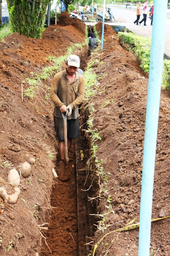
<svg viewBox="0 0 170 256">
<path fill-rule="evenodd" d="M 78 105 L 82 103 L 85 92 L 84 76 L 76 72 L 75 80 L 70 84 L 66 70 L 55 74 L 50 90 L 50 98 L 55 104 L 53 115 L 63 118 L 60 108 L 64 104 L 72 107 L 72 113 L 67 119 L 78 118 Z"/>
</svg>

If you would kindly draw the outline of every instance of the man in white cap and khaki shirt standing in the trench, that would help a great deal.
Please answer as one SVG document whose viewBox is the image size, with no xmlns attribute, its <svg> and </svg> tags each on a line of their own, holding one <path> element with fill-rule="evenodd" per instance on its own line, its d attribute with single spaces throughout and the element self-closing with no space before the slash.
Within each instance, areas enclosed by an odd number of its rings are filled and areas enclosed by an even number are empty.
<svg viewBox="0 0 170 256">
<path fill-rule="evenodd" d="M 82 103 L 85 92 L 84 76 L 78 73 L 80 58 L 76 55 L 68 56 L 65 62 L 66 69 L 55 74 L 51 85 L 50 98 L 55 104 L 53 116 L 56 138 L 59 140 L 60 165 L 64 162 L 64 122 L 62 113 L 68 109 L 67 118 L 67 145 L 68 152 L 72 139 L 79 138 L 79 113 L 78 105 Z M 61 177 L 60 177 L 61 176 Z M 67 180 L 64 174 L 59 174 L 59 179 Z"/>
</svg>

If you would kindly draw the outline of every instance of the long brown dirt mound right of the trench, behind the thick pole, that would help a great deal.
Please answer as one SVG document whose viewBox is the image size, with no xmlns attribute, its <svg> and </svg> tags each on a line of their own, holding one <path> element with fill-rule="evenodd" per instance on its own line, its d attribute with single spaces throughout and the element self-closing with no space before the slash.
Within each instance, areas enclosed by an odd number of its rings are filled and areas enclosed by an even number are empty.
<svg viewBox="0 0 170 256">
<path fill-rule="evenodd" d="M 101 31 L 101 23 L 96 28 Z M 95 242 L 111 230 L 127 225 L 134 218 L 139 222 L 145 112 L 148 75 L 139 68 L 132 53 L 124 50 L 115 32 L 105 25 L 103 54 L 95 56 L 102 66 L 94 71 L 107 74 L 100 81 L 94 98 L 94 128 L 102 141 L 98 143 L 98 160 L 102 160 L 107 178 L 106 197 L 100 201 L 99 214 L 106 214 L 98 223 Z M 170 92 L 161 91 L 152 219 L 170 215 L 169 146 Z M 105 190 L 105 187 L 102 188 Z M 109 199 L 108 199 L 109 198 Z M 110 204 L 108 203 L 110 202 Z M 110 207 L 110 212 L 107 208 Z M 113 210 L 114 214 L 111 212 Z M 99 220 L 99 219 L 98 219 Z M 102 224 L 103 223 L 103 224 Z M 152 224 L 150 248 L 158 256 L 168 256 L 170 218 Z M 103 232 L 102 232 L 103 231 Z M 98 255 L 138 255 L 139 230 L 112 233 L 96 251 Z M 168 235 L 167 235 L 168 234 Z"/>
</svg>

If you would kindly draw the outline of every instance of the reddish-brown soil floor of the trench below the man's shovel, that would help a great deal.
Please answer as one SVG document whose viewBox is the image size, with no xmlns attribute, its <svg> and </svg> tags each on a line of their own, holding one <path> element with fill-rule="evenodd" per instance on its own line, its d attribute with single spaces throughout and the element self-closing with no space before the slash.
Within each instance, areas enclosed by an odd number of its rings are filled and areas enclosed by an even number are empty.
<svg viewBox="0 0 170 256">
<path fill-rule="evenodd" d="M 58 178 L 55 180 L 51 194 L 53 211 L 49 230 L 44 232 L 53 256 L 78 256 L 75 142 L 69 157 L 74 159 L 74 167 L 70 168 L 68 181 L 62 182 Z M 47 246 L 41 255 L 51 255 Z"/>
</svg>

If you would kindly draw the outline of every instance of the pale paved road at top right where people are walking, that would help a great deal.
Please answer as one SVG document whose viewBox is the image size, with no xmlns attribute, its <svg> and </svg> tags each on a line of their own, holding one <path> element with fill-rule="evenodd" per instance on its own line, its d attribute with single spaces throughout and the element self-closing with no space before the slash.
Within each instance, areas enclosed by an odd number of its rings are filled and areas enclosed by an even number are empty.
<svg viewBox="0 0 170 256">
<path fill-rule="evenodd" d="M 102 10 L 102 9 L 101 9 Z M 135 9 L 126 9 L 119 8 L 116 6 L 111 6 L 111 11 L 115 16 L 116 22 L 106 22 L 108 25 L 119 25 L 125 26 L 127 29 L 137 34 L 138 36 L 152 37 L 152 27 L 150 26 L 150 19 L 147 17 L 147 26 L 136 26 L 133 22 L 136 20 L 136 11 Z M 143 16 L 143 15 L 142 15 Z M 141 18 L 142 18 L 141 16 Z M 141 19 L 140 19 L 141 20 Z M 87 22 L 87 25 L 94 23 Z M 165 35 L 165 48 L 164 48 L 164 57 L 170 60 L 170 19 L 166 19 L 166 35 Z"/>
</svg>

